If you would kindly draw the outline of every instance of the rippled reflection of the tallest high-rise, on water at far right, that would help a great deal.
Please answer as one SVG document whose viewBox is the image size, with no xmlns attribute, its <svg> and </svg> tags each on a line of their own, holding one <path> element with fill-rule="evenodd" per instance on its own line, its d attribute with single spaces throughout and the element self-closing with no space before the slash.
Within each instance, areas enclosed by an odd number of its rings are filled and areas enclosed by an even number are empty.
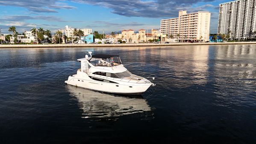
<svg viewBox="0 0 256 144">
<path fill-rule="evenodd" d="M 227 45 L 216 50 L 219 75 L 231 78 L 255 78 L 256 48 L 253 45 Z M 245 82 L 253 82 L 247 79 Z"/>
</svg>

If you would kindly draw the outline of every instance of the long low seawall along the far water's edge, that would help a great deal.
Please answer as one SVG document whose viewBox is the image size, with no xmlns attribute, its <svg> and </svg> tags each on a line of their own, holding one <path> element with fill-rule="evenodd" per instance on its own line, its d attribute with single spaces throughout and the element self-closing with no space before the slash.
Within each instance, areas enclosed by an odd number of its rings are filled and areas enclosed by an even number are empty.
<svg viewBox="0 0 256 144">
<path fill-rule="evenodd" d="M 256 44 L 256 42 L 227 42 L 227 43 L 170 43 L 170 44 L 8 44 L 1 48 L 46 48 L 46 47 L 166 47 L 184 45 L 230 45 L 230 44 Z"/>
</svg>

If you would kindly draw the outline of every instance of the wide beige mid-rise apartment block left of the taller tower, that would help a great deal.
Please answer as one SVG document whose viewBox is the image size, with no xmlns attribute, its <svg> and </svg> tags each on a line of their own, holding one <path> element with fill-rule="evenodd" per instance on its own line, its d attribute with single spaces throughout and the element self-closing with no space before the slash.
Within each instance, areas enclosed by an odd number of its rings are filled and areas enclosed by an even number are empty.
<svg viewBox="0 0 256 144">
<path fill-rule="evenodd" d="M 162 34 L 178 41 L 209 41 L 210 35 L 210 12 L 179 11 L 178 18 L 161 20 L 160 30 Z"/>
</svg>

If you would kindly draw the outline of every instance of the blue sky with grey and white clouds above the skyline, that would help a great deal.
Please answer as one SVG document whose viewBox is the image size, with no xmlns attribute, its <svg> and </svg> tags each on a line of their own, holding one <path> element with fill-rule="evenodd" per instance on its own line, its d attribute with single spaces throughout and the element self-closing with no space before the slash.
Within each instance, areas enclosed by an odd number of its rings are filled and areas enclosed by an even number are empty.
<svg viewBox="0 0 256 144">
<path fill-rule="evenodd" d="M 219 3 L 231 0 L 0 0 L 0 28 L 18 32 L 37 27 L 55 32 L 65 25 L 112 32 L 159 29 L 160 20 L 175 18 L 179 10 L 212 13 L 211 33 L 218 26 Z"/>
</svg>

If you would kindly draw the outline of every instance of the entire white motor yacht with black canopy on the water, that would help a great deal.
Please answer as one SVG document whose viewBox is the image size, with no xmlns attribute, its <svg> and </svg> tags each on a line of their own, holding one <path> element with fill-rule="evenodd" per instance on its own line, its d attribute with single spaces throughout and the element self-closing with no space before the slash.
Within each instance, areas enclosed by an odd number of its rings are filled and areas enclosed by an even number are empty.
<svg viewBox="0 0 256 144">
<path fill-rule="evenodd" d="M 77 59 L 81 68 L 77 74 L 69 76 L 65 81 L 68 85 L 102 91 L 113 94 L 142 94 L 151 85 L 154 77 L 143 78 L 130 73 L 121 59 L 116 55 L 96 54 L 88 52 L 85 58 Z"/>
</svg>

